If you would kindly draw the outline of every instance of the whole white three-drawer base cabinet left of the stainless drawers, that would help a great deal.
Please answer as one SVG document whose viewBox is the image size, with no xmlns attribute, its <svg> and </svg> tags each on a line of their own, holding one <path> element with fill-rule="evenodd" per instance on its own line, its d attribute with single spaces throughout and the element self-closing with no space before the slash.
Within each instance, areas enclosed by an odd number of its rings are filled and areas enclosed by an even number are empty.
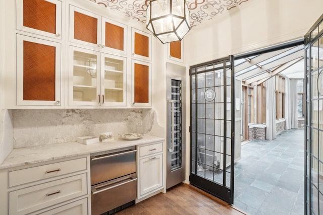
<svg viewBox="0 0 323 215">
<path fill-rule="evenodd" d="M 7 170 L 8 213 L 88 214 L 88 161 L 83 157 Z"/>
</svg>

